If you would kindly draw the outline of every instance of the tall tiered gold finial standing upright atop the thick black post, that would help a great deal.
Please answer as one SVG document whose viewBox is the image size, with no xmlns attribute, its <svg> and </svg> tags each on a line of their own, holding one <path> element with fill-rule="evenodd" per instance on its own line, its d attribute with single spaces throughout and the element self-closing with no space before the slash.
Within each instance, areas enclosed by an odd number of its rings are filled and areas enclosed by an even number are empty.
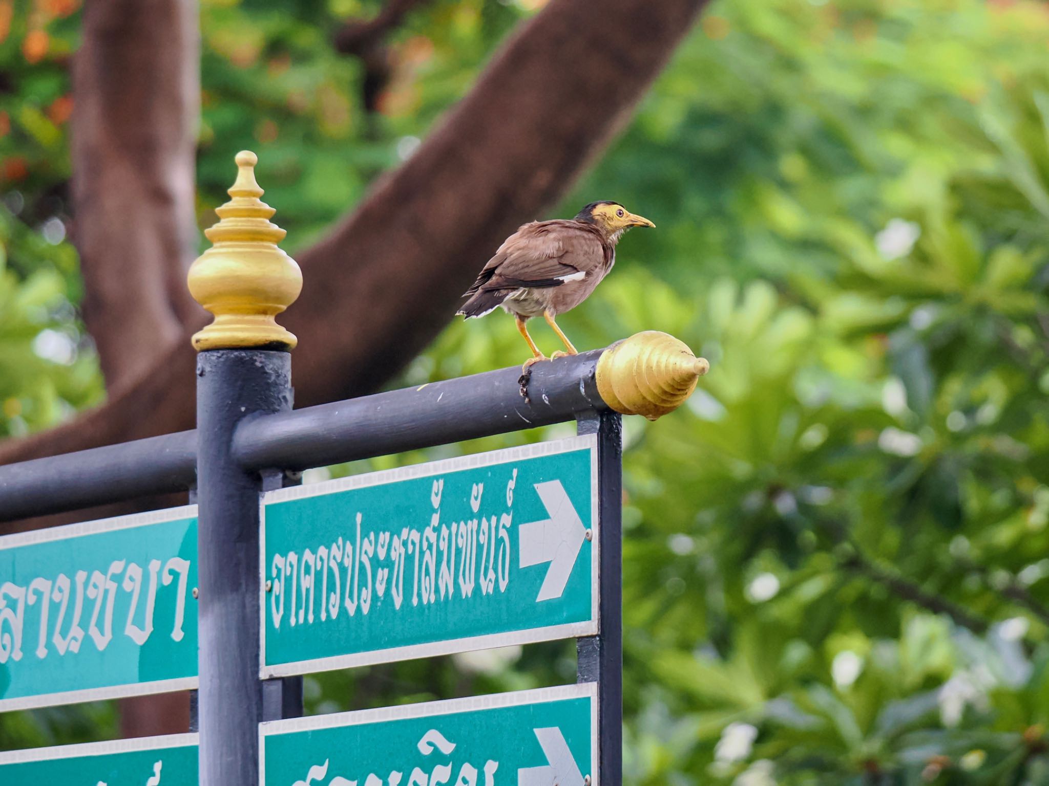
<svg viewBox="0 0 1049 786">
<path fill-rule="evenodd" d="M 255 180 L 258 156 L 237 153 L 237 179 L 230 201 L 215 209 L 219 222 L 205 235 L 214 245 L 200 255 L 189 272 L 193 299 L 215 314 L 193 336 L 193 347 L 206 349 L 291 350 L 298 340 L 274 319 L 302 291 L 302 272 L 295 260 L 277 247 L 285 232 L 270 217 L 276 211 L 259 199 Z"/>
</svg>

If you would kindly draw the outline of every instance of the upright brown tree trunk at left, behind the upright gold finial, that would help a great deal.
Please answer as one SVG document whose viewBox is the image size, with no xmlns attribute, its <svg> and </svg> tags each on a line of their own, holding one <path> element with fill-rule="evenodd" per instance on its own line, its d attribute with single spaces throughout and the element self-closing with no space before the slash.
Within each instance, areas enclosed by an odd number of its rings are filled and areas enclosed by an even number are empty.
<svg viewBox="0 0 1049 786">
<path fill-rule="evenodd" d="M 73 239 L 84 322 L 106 387 L 150 371 L 199 324 L 186 289 L 196 244 L 199 25 L 194 0 L 92 0 L 73 59 Z"/>
</svg>

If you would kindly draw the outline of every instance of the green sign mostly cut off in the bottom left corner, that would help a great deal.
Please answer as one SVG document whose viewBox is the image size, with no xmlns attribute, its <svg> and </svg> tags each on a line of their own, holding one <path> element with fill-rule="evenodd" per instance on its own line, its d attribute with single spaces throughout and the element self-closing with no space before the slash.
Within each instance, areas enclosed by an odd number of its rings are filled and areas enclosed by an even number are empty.
<svg viewBox="0 0 1049 786">
<path fill-rule="evenodd" d="M 196 786 L 197 736 L 0 752 L 4 786 Z"/>
</svg>

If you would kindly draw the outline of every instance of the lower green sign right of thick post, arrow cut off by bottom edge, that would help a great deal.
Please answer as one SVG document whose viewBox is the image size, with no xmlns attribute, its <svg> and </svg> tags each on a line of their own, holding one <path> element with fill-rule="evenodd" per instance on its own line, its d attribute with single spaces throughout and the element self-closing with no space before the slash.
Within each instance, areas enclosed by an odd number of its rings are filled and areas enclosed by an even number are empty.
<svg viewBox="0 0 1049 786">
<path fill-rule="evenodd" d="M 597 685 L 259 726 L 260 786 L 597 786 Z"/>
</svg>

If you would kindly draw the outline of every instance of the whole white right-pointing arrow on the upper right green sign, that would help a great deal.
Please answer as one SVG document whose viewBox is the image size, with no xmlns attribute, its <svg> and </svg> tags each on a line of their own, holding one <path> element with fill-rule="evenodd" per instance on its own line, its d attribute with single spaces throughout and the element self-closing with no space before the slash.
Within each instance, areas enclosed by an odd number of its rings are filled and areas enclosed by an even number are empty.
<svg viewBox="0 0 1049 786">
<path fill-rule="evenodd" d="M 550 514 L 549 519 L 521 524 L 520 534 L 520 566 L 522 568 L 549 562 L 547 577 L 539 588 L 536 601 L 550 601 L 560 597 L 564 587 L 576 566 L 579 549 L 586 540 L 586 527 L 579 519 L 579 514 L 572 505 L 564 486 L 559 480 L 548 480 L 536 483 L 535 490 L 542 500 L 543 507 Z"/>
</svg>

